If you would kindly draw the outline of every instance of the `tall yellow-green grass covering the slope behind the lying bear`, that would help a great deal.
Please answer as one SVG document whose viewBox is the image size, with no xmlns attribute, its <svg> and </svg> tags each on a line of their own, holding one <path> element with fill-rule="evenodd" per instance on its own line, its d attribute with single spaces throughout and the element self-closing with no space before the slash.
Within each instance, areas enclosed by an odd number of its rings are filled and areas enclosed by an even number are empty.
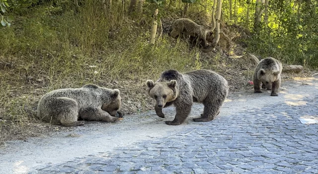
<svg viewBox="0 0 318 174">
<path fill-rule="evenodd" d="M 6 122 L 0 126 L 35 122 L 30 110 L 44 93 L 86 83 L 109 88 L 121 86 L 110 86 L 114 81 L 136 83 L 122 92 L 123 100 L 130 97 L 145 106 L 142 87 L 147 79 L 155 80 L 170 68 L 201 67 L 197 50 L 189 51 L 185 43 L 164 35 L 149 45 L 151 18 L 132 20 L 133 16 L 123 17 L 119 8 L 120 4 L 113 4 L 110 15 L 89 0 L 79 13 L 71 7 L 42 5 L 2 28 L 0 119 Z"/>
</svg>

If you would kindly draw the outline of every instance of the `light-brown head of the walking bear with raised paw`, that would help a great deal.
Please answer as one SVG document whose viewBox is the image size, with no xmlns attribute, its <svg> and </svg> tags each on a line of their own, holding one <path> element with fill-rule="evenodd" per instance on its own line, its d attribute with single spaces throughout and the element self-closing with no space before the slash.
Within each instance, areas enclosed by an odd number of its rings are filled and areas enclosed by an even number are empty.
<svg viewBox="0 0 318 174">
<path fill-rule="evenodd" d="M 156 82 L 152 80 L 147 81 L 148 94 L 157 101 L 157 106 L 163 108 L 165 103 L 173 101 L 177 98 L 177 81 L 170 82 Z"/>
</svg>

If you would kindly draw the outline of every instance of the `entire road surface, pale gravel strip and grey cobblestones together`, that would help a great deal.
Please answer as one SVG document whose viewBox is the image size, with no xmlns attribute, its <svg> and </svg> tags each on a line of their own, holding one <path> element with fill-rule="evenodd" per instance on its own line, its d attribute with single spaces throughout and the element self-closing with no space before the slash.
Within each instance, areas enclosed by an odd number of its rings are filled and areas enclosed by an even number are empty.
<svg viewBox="0 0 318 174">
<path fill-rule="evenodd" d="M 210 122 L 193 122 L 203 111 L 195 104 L 179 126 L 174 107 L 127 115 L 111 124 L 86 122 L 72 132 L 0 149 L 0 174 L 317 174 L 318 78 L 284 82 L 278 97 L 270 91 L 231 93 Z"/>
</svg>

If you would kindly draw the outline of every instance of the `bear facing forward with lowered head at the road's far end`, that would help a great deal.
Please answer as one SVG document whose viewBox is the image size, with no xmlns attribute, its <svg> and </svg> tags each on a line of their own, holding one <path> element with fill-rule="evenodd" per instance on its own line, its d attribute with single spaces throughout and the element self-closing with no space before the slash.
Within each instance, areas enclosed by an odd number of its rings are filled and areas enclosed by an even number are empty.
<svg viewBox="0 0 318 174">
<path fill-rule="evenodd" d="M 272 90 L 271 96 L 278 96 L 282 69 L 282 63 L 272 57 L 259 61 L 253 76 L 254 93 L 262 92 L 259 87 L 262 83 L 263 89 Z"/>
</svg>

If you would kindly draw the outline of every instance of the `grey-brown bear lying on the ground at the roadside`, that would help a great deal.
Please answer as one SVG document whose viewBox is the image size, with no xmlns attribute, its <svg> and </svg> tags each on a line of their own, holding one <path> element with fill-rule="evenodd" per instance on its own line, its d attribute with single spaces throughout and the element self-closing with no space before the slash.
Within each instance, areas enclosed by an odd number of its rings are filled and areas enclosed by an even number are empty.
<svg viewBox="0 0 318 174">
<path fill-rule="evenodd" d="M 87 120 L 114 122 L 120 107 L 118 89 L 108 89 L 87 84 L 81 88 L 52 90 L 39 101 L 37 115 L 50 123 L 72 127 L 83 125 Z M 121 115 L 120 112 L 118 114 Z"/>
</svg>

